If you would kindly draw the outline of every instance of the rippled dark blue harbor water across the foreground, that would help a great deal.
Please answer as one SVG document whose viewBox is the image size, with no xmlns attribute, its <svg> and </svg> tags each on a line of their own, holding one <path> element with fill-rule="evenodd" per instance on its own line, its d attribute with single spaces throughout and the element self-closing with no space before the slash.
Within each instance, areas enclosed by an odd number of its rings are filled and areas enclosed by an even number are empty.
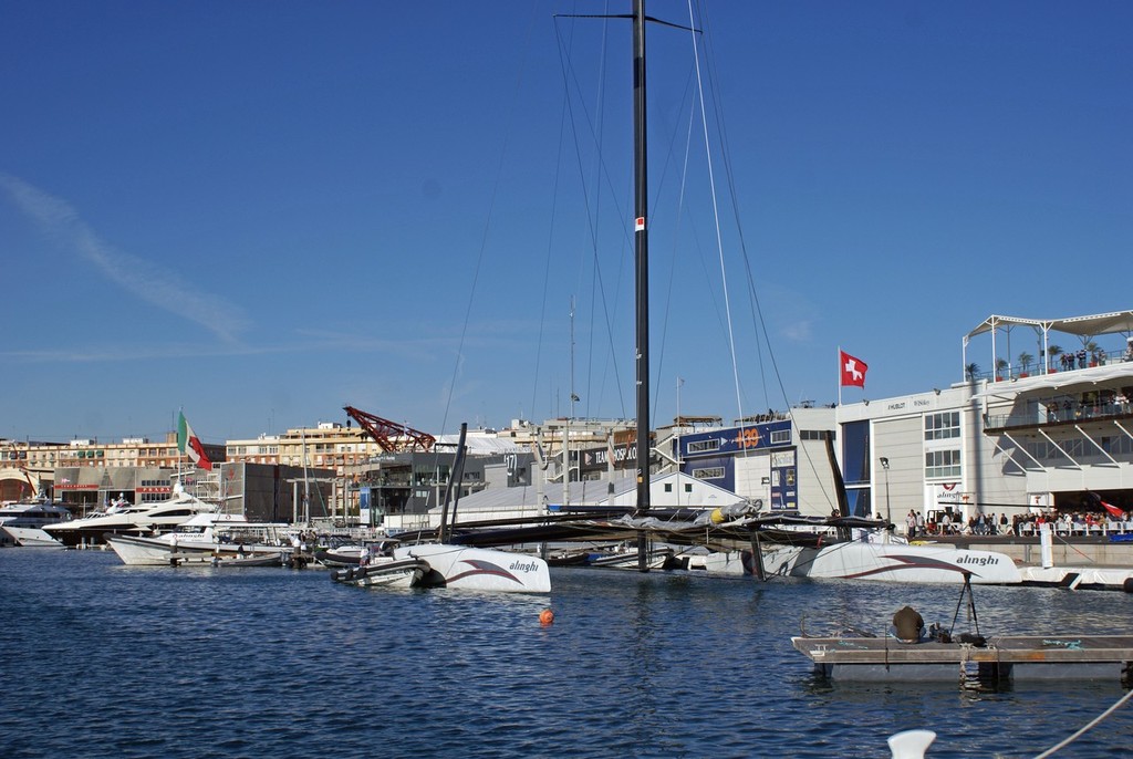
<svg viewBox="0 0 1133 759">
<path fill-rule="evenodd" d="M 359 589 L 321 570 L 128 568 L 0 551 L 0 756 L 1031 757 L 1117 682 L 849 684 L 791 646 L 880 632 L 956 587 L 556 569 L 546 596 Z M 1133 595 L 974 590 L 986 636 L 1128 633 Z M 973 630 L 960 607 L 956 632 Z M 553 608 L 555 621 L 539 623 Z M 1058 757 L 1122 757 L 1133 707 Z"/>
</svg>

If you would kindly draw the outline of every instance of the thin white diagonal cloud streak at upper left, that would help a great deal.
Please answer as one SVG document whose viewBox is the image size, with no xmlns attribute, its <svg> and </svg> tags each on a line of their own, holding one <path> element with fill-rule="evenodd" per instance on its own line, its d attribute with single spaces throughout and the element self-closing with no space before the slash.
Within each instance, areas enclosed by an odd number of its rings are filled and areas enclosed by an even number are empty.
<svg viewBox="0 0 1133 759">
<path fill-rule="evenodd" d="M 103 276 L 139 300 L 199 324 L 228 343 L 248 327 L 242 310 L 222 298 L 201 292 L 180 281 L 174 272 L 133 256 L 99 238 L 65 201 L 0 172 L 0 187 L 22 212 L 65 247 L 95 266 Z"/>
</svg>

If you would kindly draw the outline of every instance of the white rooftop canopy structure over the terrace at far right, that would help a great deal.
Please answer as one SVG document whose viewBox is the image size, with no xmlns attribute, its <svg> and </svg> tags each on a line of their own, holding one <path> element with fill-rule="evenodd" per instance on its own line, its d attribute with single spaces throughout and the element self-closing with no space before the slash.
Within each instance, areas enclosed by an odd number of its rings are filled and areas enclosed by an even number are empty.
<svg viewBox="0 0 1133 759">
<path fill-rule="evenodd" d="M 1094 338 L 1107 335 L 1107 334 L 1121 334 L 1124 335 L 1126 344 L 1133 342 L 1133 310 L 1124 312 L 1111 312 L 1109 314 L 1098 314 L 1096 316 L 1071 316 L 1068 318 L 1056 318 L 1056 319 L 1040 319 L 1040 318 L 1023 318 L 1019 316 L 998 316 L 991 315 L 983 319 L 979 326 L 964 335 L 963 342 L 963 376 L 965 380 L 972 380 L 974 377 L 969 376 L 973 374 L 969 367 L 968 363 L 968 343 L 971 342 L 972 338 L 990 332 L 991 333 L 991 370 L 996 372 L 999 369 L 999 340 L 1000 334 L 1006 341 L 1006 353 L 1007 358 L 1005 369 L 1007 374 L 1014 374 L 1015 370 L 1022 369 L 1023 372 L 1029 370 L 1029 367 L 1016 367 L 1012 364 L 1012 352 L 1011 352 L 1011 333 L 1012 330 L 1016 327 L 1030 327 L 1034 331 L 1037 339 L 1037 346 L 1039 350 L 1038 361 L 1036 363 L 1036 368 L 1038 374 L 1047 374 L 1051 370 L 1053 366 L 1049 358 L 1051 355 L 1051 343 L 1050 333 L 1062 333 L 1065 335 L 1072 335 L 1081 341 L 1082 348 L 1087 349 L 1088 346 L 1093 342 Z M 1060 352 L 1060 351 L 1056 351 Z M 1070 351 L 1066 351 L 1070 352 Z M 1117 357 L 1121 359 L 1121 356 Z"/>
</svg>

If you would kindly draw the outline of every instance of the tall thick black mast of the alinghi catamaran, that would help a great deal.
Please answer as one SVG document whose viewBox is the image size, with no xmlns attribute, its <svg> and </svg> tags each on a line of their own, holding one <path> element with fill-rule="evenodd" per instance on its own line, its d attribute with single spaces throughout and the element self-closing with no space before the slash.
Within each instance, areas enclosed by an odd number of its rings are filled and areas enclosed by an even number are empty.
<svg viewBox="0 0 1133 759">
<path fill-rule="evenodd" d="M 633 0 L 633 242 L 637 272 L 637 510 L 649 513 L 649 230 L 646 213 L 645 0 Z M 646 534 L 638 569 L 648 571 Z"/>
</svg>

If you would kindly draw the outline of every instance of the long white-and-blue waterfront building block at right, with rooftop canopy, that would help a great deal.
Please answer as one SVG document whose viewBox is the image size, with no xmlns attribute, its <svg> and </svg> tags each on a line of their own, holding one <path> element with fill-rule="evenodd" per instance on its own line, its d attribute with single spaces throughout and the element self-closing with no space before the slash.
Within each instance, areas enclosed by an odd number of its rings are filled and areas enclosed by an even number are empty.
<svg viewBox="0 0 1133 759">
<path fill-rule="evenodd" d="M 1034 353 L 1002 358 L 1021 329 Z M 969 361 L 981 339 L 990 372 Z M 1071 353 L 1073 361 L 1060 358 Z M 909 511 L 947 511 L 966 523 L 991 513 L 1099 512 L 1100 501 L 1133 511 L 1133 312 L 991 316 L 963 335 L 962 358 L 963 376 L 948 386 L 674 435 L 674 458 L 690 476 L 768 510 L 827 515 L 837 503 L 830 434 L 853 514 L 902 522 Z"/>
</svg>

